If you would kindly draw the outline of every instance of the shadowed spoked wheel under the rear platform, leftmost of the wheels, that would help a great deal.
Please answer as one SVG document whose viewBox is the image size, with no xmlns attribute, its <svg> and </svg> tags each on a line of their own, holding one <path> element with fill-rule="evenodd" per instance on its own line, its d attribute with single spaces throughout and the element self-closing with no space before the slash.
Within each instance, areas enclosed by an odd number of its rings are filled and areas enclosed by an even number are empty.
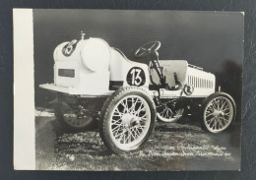
<svg viewBox="0 0 256 180">
<path fill-rule="evenodd" d="M 96 125 L 93 117 L 84 114 L 82 106 L 74 107 L 62 99 L 59 99 L 55 106 L 55 116 L 67 130 L 71 131 L 90 130 Z"/>
</svg>

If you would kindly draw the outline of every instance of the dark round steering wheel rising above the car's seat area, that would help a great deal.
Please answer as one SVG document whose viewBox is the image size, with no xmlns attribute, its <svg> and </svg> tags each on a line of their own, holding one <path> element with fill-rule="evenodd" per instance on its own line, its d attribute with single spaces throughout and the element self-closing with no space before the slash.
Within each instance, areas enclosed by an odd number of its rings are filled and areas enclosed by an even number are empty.
<svg viewBox="0 0 256 180">
<path fill-rule="evenodd" d="M 135 57 L 144 57 L 151 53 L 158 53 L 160 49 L 160 41 L 151 41 L 140 46 L 134 53 Z"/>
</svg>

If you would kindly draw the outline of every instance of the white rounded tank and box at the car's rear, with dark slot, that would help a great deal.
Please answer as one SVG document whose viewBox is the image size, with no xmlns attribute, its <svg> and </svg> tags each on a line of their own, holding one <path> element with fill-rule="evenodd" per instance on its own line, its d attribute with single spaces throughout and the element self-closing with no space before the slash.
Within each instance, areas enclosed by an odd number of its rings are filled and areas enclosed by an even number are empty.
<svg viewBox="0 0 256 180">
<path fill-rule="evenodd" d="M 54 56 L 54 84 L 73 93 L 93 94 L 109 87 L 110 47 L 100 38 L 59 44 Z"/>
</svg>

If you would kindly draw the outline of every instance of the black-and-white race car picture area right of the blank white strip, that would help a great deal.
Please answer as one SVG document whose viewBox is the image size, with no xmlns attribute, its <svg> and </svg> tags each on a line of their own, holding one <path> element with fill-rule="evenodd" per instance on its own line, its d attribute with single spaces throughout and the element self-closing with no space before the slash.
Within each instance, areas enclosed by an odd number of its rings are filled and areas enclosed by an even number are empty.
<svg viewBox="0 0 256 180">
<path fill-rule="evenodd" d="M 243 12 L 33 9 L 34 169 L 240 170 L 243 42 Z"/>
</svg>

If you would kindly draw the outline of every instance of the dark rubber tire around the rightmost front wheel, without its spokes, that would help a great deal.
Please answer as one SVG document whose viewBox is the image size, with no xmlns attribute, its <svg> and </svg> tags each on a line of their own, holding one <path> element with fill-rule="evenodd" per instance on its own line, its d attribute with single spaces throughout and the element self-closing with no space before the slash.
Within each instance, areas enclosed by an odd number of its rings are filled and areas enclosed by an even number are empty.
<svg viewBox="0 0 256 180">
<path fill-rule="evenodd" d="M 220 132 L 211 132 L 211 131 L 207 128 L 207 126 L 205 125 L 205 121 L 204 121 L 204 111 L 205 111 L 206 105 L 207 105 L 211 100 L 213 100 L 214 98 L 216 98 L 216 97 L 218 97 L 218 96 L 224 96 L 225 98 L 227 98 L 227 99 L 231 102 L 231 105 L 232 105 L 232 107 L 233 107 L 233 117 L 232 117 L 232 119 L 231 119 L 230 124 L 229 124 L 223 131 L 220 131 Z M 233 123 L 233 121 L 234 121 L 234 119 L 235 119 L 235 117 L 236 117 L 236 105 L 235 105 L 235 102 L 234 102 L 233 98 L 232 98 L 229 94 L 227 94 L 227 93 L 225 93 L 225 92 L 223 92 L 223 91 L 217 91 L 217 92 L 212 93 L 211 95 L 209 95 L 209 96 L 203 101 L 202 109 L 201 109 L 201 113 L 200 113 L 200 114 L 201 114 L 201 118 L 202 118 L 202 129 L 205 130 L 205 131 L 207 131 L 207 132 L 209 132 L 209 133 L 218 134 L 218 133 L 224 132 L 225 130 L 227 130 L 227 129 L 232 125 L 232 123 Z"/>
</svg>

